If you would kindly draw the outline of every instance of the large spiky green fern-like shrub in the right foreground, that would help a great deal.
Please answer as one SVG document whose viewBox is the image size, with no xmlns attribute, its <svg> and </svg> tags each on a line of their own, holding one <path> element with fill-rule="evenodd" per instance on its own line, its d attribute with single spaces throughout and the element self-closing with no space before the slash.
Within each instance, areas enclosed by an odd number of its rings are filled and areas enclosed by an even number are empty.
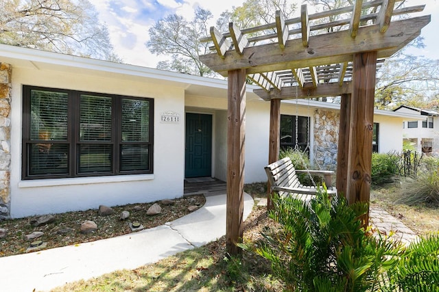
<svg viewBox="0 0 439 292">
<path fill-rule="evenodd" d="M 270 261 L 288 291 L 438 291 L 439 235 L 404 248 L 361 227 L 366 203 L 322 191 L 310 202 L 274 194 L 263 241 L 240 243 Z M 434 290 L 431 290 L 433 288 Z"/>
</svg>

